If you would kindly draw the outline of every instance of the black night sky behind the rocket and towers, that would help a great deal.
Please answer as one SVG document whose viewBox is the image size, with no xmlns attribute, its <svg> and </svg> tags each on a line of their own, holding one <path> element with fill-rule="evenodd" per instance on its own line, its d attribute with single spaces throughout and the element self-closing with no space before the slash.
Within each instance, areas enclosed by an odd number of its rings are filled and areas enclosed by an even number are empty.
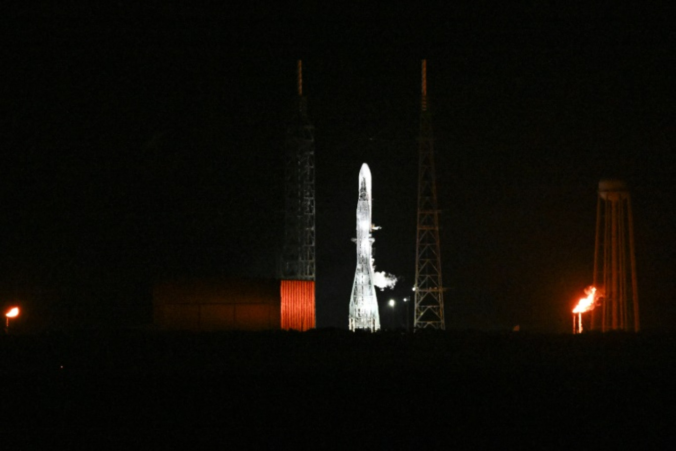
<svg viewBox="0 0 676 451">
<path fill-rule="evenodd" d="M 425 57 L 448 328 L 570 331 L 608 177 L 631 188 L 642 327 L 675 328 L 672 11 L 351 8 L 9 14 L 0 302 L 26 327 L 137 325 L 158 281 L 275 277 L 301 58 L 317 324 L 347 328 L 366 162 L 376 269 L 400 277 L 387 325 L 412 295 Z"/>
</svg>

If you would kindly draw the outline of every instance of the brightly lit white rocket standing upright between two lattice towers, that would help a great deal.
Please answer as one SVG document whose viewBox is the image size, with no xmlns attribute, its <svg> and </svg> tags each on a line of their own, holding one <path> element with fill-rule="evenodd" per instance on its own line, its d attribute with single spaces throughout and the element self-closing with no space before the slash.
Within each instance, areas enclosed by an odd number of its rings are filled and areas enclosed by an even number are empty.
<svg viewBox="0 0 676 451">
<path fill-rule="evenodd" d="M 357 201 L 357 268 L 354 272 L 352 297 L 349 300 L 349 330 L 380 329 L 376 289 L 373 283 L 372 245 L 374 229 L 371 221 L 371 171 L 362 164 L 359 171 L 359 199 Z"/>
</svg>

